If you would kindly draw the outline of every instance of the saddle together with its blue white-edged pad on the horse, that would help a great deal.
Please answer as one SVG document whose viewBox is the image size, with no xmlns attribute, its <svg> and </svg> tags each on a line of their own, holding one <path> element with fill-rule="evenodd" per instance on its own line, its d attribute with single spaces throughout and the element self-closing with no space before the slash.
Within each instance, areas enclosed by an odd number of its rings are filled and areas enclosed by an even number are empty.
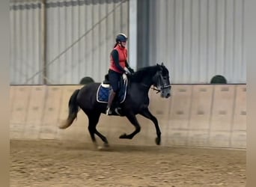
<svg viewBox="0 0 256 187">
<path fill-rule="evenodd" d="M 113 105 L 115 105 L 114 102 L 118 102 L 118 104 L 124 102 L 126 96 L 127 96 L 127 85 L 128 85 L 128 79 L 127 75 L 123 74 L 123 79 L 120 84 L 120 89 L 118 91 L 118 94 L 113 101 Z M 108 75 L 105 76 L 105 80 L 100 84 L 100 86 L 97 89 L 97 102 L 103 102 L 107 103 L 109 100 L 109 93 L 111 91 L 111 85 L 109 85 L 109 79 Z"/>
</svg>

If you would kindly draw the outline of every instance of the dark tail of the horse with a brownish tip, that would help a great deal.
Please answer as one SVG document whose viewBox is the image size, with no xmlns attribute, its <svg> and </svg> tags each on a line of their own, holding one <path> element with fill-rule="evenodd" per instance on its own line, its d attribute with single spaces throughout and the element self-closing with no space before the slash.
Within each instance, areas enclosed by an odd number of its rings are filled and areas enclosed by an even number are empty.
<svg viewBox="0 0 256 187">
<path fill-rule="evenodd" d="M 68 102 L 68 117 L 67 120 L 64 121 L 64 123 L 61 123 L 60 126 L 58 126 L 60 129 L 67 129 L 72 123 L 73 120 L 76 119 L 77 113 L 79 111 L 79 105 L 76 102 L 76 96 L 79 93 L 80 90 L 76 90 L 73 92 L 73 94 L 70 96 L 70 100 Z"/>
</svg>

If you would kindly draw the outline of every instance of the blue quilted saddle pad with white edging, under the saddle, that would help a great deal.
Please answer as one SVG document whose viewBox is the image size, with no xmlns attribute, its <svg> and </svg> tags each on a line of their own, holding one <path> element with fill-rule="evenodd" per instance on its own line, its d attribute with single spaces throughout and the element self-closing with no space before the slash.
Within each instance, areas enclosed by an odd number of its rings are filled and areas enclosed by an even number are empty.
<svg viewBox="0 0 256 187">
<path fill-rule="evenodd" d="M 109 92 L 110 92 L 109 84 L 101 83 L 97 89 L 97 102 L 108 102 Z M 124 102 L 126 96 L 127 96 L 127 77 L 124 78 L 124 84 L 122 85 L 122 88 L 118 92 L 118 101 L 120 103 Z"/>
</svg>

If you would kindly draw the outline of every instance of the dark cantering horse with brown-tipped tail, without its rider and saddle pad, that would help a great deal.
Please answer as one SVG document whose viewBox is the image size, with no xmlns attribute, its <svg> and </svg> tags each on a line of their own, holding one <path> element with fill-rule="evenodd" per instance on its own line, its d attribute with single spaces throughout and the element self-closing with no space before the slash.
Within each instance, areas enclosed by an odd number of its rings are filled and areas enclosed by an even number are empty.
<svg viewBox="0 0 256 187">
<path fill-rule="evenodd" d="M 104 146 L 109 147 L 107 138 L 96 129 L 100 114 L 106 114 L 107 105 L 97 101 L 97 90 L 100 84 L 100 82 L 93 82 L 73 92 L 68 102 L 69 114 L 67 120 L 64 120 L 64 123 L 59 128 L 66 129 L 69 127 L 73 120 L 76 119 L 79 108 L 82 108 L 82 111 L 88 116 L 88 131 L 95 146 L 97 147 L 96 134 L 101 138 Z M 135 130 L 128 135 L 124 133 L 119 138 L 132 139 L 141 131 L 141 126 L 135 116 L 136 114 L 141 114 L 153 121 L 156 128 L 156 144 L 159 145 L 161 143 L 161 131 L 158 120 L 151 114 L 148 108 L 150 102 L 148 92 L 152 85 L 154 90 L 161 93 L 161 97 L 168 98 L 171 96 L 169 72 L 163 63 L 143 67 L 128 76 L 127 95 L 124 102 L 120 103 L 119 106 L 121 108 L 121 116 L 127 117 L 129 122 L 135 126 Z"/>
</svg>

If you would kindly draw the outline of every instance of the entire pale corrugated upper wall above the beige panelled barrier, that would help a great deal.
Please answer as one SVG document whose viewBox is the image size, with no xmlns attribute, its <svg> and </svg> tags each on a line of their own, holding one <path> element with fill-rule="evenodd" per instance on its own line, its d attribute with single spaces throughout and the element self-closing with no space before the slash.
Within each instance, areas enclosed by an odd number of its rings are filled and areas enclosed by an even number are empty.
<svg viewBox="0 0 256 187">
<path fill-rule="evenodd" d="M 148 22 L 135 25 L 141 19 L 132 15 L 135 0 L 46 1 L 48 84 L 77 84 L 84 76 L 101 82 L 119 32 L 131 34 L 133 67 L 163 61 L 171 83 L 209 83 L 216 74 L 228 83 L 246 83 L 244 0 L 137 1 L 141 3 L 138 11 L 148 13 Z M 41 7 L 40 1 L 10 1 L 11 84 L 43 84 Z M 148 36 L 139 52 L 136 26 Z M 135 61 L 136 55 L 147 62 Z"/>
</svg>

